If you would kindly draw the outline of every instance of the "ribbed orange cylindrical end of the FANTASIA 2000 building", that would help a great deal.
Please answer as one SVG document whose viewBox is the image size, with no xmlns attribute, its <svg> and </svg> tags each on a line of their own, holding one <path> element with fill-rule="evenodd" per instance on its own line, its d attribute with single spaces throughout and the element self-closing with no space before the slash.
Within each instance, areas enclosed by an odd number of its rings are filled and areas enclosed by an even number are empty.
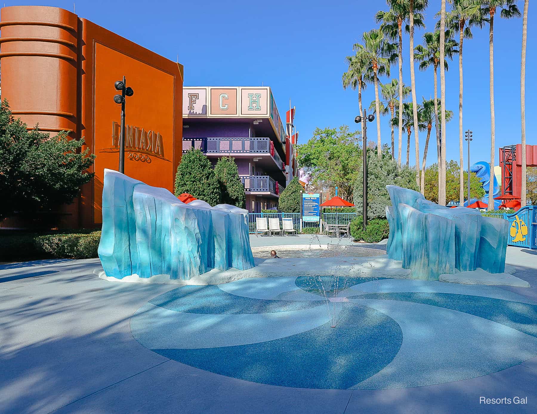
<svg viewBox="0 0 537 414">
<path fill-rule="evenodd" d="M 1 11 L 2 99 L 12 113 L 41 131 L 76 131 L 78 17 L 45 6 Z"/>
</svg>

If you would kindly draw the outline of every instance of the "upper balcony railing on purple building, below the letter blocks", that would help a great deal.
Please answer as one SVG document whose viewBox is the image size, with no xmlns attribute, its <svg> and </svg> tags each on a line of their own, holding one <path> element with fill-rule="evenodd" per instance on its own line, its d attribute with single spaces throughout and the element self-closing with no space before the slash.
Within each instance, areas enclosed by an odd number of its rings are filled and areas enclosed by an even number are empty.
<svg viewBox="0 0 537 414">
<path fill-rule="evenodd" d="M 191 148 L 197 148 L 204 154 L 270 154 L 278 167 L 285 171 L 285 163 L 269 138 L 183 138 L 183 153 Z"/>
</svg>

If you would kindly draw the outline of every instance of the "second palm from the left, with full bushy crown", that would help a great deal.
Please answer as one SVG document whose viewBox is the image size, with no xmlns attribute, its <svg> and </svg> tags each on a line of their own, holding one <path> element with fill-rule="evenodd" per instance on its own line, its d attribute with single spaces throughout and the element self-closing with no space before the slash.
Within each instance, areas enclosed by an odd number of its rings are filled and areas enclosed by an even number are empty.
<svg viewBox="0 0 537 414">
<path fill-rule="evenodd" d="M 379 106 L 379 73 L 390 76 L 390 66 L 395 61 L 395 44 L 388 42 L 380 29 L 372 29 L 364 32 L 362 42 L 355 43 L 354 50 L 358 51 L 360 57 L 369 62 L 369 73 L 373 72 L 373 83 L 375 85 L 376 102 L 376 154 L 381 157 L 380 139 L 380 106 Z"/>
</svg>

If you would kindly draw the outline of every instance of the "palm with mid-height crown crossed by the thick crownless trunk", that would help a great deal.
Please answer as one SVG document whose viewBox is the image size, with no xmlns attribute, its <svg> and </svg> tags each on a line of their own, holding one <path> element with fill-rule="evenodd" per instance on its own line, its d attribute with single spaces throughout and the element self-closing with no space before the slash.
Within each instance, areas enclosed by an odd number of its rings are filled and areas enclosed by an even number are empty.
<svg viewBox="0 0 537 414">
<path fill-rule="evenodd" d="M 457 42 L 454 39 L 451 39 L 449 33 L 447 41 L 444 41 L 444 56 L 448 58 L 453 58 L 453 55 L 457 53 Z M 423 45 L 418 45 L 415 48 L 416 50 L 416 59 L 419 63 L 419 70 L 426 70 L 430 66 L 433 67 L 434 73 L 434 129 L 436 131 L 437 138 L 437 156 L 438 156 L 438 171 L 440 172 L 440 166 L 442 165 L 442 154 L 441 154 L 441 144 L 440 144 L 440 116 L 438 116 L 438 65 L 440 64 L 440 31 L 436 32 L 427 32 L 423 35 Z M 447 61 L 444 60 L 444 68 L 449 69 Z M 438 174 L 438 190 L 440 191 L 441 187 L 441 174 Z M 440 198 L 439 198 L 440 199 Z"/>
</svg>

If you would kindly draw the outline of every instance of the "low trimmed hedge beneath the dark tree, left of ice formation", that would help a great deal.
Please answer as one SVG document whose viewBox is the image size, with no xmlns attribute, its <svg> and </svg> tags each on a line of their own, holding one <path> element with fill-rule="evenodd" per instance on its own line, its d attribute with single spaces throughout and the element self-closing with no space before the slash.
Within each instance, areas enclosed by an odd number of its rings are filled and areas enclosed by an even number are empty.
<svg viewBox="0 0 537 414">
<path fill-rule="evenodd" d="M 0 234 L 0 261 L 97 257 L 101 232 Z"/>
</svg>

